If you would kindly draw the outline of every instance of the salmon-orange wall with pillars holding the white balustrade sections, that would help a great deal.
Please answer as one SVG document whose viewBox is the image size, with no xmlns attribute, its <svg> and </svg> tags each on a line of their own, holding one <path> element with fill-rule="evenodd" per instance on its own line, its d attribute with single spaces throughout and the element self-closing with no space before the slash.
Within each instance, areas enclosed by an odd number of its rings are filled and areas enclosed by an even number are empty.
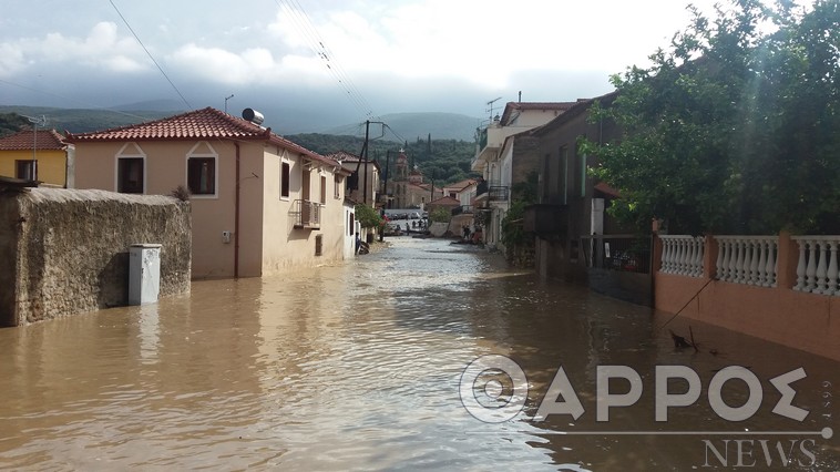
<svg viewBox="0 0 840 472">
<path fill-rule="evenodd" d="M 703 277 L 655 273 L 657 309 L 840 360 L 840 297 L 792 289 L 798 256 L 788 235 L 779 236 L 777 287 L 714 279 L 717 247 L 710 236 L 705 244 Z"/>
</svg>

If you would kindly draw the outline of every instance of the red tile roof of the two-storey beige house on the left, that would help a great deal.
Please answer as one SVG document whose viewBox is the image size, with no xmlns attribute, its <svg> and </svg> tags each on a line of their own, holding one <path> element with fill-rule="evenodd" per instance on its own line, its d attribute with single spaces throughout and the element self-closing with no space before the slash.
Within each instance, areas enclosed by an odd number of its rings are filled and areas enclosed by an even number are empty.
<svg viewBox="0 0 840 472">
<path fill-rule="evenodd" d="M 264 129 L 247 120 L 229 115 L 211 106 L 146 123 L 90 133 L 68 133 L 66 137 L 66 141 L 70 143 L 193 140 L 266 141 L 303 154 L 311 161 L 338 166 L 338 162 L 335 160 L 325 157 L 272 133 L 270 127 Z"/>
</svg>

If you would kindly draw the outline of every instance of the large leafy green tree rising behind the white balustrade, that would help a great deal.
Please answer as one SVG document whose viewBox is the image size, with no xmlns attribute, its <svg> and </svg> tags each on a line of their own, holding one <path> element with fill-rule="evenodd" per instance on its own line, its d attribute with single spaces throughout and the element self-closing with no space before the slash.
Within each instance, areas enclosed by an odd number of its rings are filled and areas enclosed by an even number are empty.
<svg viewBox="0 0 840 472">
<path fill-rule="evenodd" d="M 840 230 L 840 0 L 737 0 L 612 78 L 622 140 L 584 143 L 612 212 L 672 233 Z"/>
</svg>

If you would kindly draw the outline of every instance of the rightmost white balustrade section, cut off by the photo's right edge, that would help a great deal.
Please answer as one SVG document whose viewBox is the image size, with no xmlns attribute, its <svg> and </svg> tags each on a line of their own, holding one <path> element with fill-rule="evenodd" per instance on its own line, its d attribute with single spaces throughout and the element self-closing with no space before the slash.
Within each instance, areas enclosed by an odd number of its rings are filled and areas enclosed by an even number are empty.
<svg viewBox="0 0 840 472">
<path fill-rule="evenodd" d="M 793 290 L 840 295 L 837 250 L 840 236 L 792 236 L 799 245 L 797 285 Z"/>
</svg>

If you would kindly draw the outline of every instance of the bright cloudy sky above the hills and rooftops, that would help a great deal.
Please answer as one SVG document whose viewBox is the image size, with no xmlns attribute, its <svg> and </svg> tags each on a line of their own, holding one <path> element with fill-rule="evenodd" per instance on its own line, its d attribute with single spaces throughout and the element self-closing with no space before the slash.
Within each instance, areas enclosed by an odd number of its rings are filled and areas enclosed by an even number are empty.
<svg viewBox="0 0 840 472">
<path fill-rule="evenodd" d="M 609 92 L 609 74 L 687 24 L 687 3 L 2 0 L 0 104 L 223 110 L 234 95 L 232 114 L 254 107 L 291 132 L 401 112 L 483 117 L 520 91 Z"/>
</svg>

